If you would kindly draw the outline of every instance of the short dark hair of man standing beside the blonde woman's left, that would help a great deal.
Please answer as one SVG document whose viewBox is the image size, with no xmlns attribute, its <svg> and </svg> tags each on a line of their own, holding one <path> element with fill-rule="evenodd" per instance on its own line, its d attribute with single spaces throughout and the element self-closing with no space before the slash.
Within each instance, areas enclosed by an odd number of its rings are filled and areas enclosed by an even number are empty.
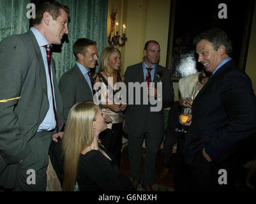
<svg viewBox="0 0 256 204">
<path fill-rule="evenodd" d="M 78 53 L 81 53 L 83 55 L 86 54 L 87 47 L 89 47 L 90 45 L 97 45 L 97 43 L 96 41 L 89 40 L 87 38 L 80 38 L 79 40 L 75 41 L 73 45 L 73 53 L 75 55 L 75 59 L 78 59 Z"/>
</svg>

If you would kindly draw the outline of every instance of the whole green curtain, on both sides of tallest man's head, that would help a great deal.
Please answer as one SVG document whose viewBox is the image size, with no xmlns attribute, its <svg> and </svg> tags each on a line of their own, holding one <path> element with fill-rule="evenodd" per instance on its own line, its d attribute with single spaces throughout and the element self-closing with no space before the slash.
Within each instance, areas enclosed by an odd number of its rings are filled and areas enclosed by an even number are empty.
<svg viewBox="0 0 256 204">
<path fill-rule="evenodd" d="M 70 8 L 68 43 L 52 55 L 56 61 L 57 80 L 75 64 L 73 43 L 79 38 L 97 42 L 98 57 L 106 44 L 107 0 L 57 0 Z M 0 41 L 11 34 L 26 33 L 29 28 L 26 8 L 30 0 L 0 0 Z M 96 68 L 97 71 L 98 68 Z"/>
</svg>

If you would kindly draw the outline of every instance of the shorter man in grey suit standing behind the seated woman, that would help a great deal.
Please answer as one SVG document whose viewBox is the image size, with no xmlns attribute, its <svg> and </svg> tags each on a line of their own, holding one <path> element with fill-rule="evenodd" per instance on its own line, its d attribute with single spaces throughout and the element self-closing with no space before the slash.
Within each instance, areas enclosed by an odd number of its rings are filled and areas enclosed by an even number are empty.
<svg viewBox="0 0 256 204">
<path fill-rule="evenodd" d="M 96 42 L 86 38 L 80 38 L 73 45 L 73 53 L 77 62 L 59 80 L 59 90 L 64 106 L 64 121 L 68 118 L 68 112 L 73 105 L 82 101 L 93 101 L 94 94 L 89 68 L 96 66 L 97 52 Z"/>
</svg>

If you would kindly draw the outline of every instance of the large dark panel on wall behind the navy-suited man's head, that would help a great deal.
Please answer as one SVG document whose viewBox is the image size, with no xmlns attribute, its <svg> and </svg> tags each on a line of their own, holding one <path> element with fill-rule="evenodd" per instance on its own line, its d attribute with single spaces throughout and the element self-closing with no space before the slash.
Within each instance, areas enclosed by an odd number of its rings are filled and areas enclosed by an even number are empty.
<svg viewBox="0 0 256 204">
<path fill-rule="evenodd" d="M 225 3 L 227 5 L 227 18 L 218 18 L 218 13 L 222 10 L 222 8 L 218 8 L 220 3 Z M 220 27 L 228 34 L 233 47 L 232 59 L 234 59 L 237 64 L 239 64 L 241 60 L 245 61 L 245 59 L 242 59 L 243 57 L 241 57 L 241 51 L 244 49 L 243 46 L 246 47 L 244 50 L 245 52 L 243 52 L 243 55 L 245 55 L 246 58 L 248 50 L 246 33 L 250 33 L 252 24 L 252 13 L 250 13 L 250 8 L 254 8 L 254 4 L 255 1 L 176 0 L 174 33 L 173 36 L 170 36 L 170 38 L 173 38 L 172 57 L 169 57 L 169 59 L 171 59 L 170 71 L 172 77 L 185 77 L 179 70 L 181 69 L 179 67 L 180 61 L 178 60 L 180 56 L 177 56 L 177 52 L 173 50 L 175 46 L 177 48 L 177 38 L 181 38 L 182 43 L 180 43 L 180 46 L 183 47 L 182 51 L 179 50 L 179 54 L 181 54 L 181 52 L 184 54 L 184 52 L 190 52 L 191 50 L 195 51 L 193 38 L 202 31 L 206 31 L 213 27 Z M 176 56 L 173 56 L 175 54 Z M 194 56 L 195 61 L 197 61 L 197 54 L 194 54 Z M 198 63 L 196 64 L 195 67 L 202 69 Z M 245 69 L 245 64 L 242 65 L 243 67 L 241 68 Z"/>
</svg>

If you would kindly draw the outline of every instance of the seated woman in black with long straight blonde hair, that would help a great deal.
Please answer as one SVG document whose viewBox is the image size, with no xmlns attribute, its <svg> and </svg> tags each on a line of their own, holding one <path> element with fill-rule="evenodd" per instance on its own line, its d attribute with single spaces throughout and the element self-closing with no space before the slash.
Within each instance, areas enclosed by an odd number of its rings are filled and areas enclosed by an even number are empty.
<svg viewBox="0 0 256 204">
<path fill-rule="evenodd" d="M 105 115 L 93 101 L 74 105 L 63 136 L 63 191 L 133 191 L 131 180 L 121 174 L 112 154 L 98 144 L 107 129 Z"/>
</svg>

